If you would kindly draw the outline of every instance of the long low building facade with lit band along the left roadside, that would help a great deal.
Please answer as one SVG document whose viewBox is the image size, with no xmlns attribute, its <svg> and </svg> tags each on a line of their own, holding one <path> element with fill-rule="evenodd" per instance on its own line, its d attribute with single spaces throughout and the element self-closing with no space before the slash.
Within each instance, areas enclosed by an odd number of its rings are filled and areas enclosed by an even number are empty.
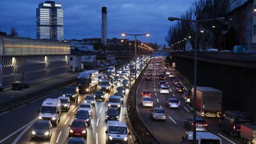
<svg viewBox="0 0 256 144">
<path fill-rule="evenodd" d="M 69 56 L 67 42 L 0 36 L 0 85 L 67 73 Z"/>
</svg>

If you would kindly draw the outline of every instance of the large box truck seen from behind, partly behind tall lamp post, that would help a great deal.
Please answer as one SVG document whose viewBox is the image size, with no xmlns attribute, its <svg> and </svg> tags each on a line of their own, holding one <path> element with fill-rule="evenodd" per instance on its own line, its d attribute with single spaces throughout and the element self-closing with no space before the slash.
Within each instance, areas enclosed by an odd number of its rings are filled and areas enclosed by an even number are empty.
<svg viewBox="0 0 256 144">
<path fill-rule="evenodd" d="M 194 111 L 194 87 L 189 107 Z M 212 87 L 196 87 L 196 114 L 199 116 L 220 117 L 222 106 L 222 91 Z"/>
</svg>

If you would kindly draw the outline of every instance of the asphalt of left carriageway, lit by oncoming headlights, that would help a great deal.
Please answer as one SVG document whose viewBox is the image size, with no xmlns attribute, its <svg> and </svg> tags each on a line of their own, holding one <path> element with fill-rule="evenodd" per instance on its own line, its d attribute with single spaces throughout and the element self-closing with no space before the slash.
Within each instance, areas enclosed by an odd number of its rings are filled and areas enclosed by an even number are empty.
<svg viewBox="0 0 256 144">
<path fill-rule="evenodd" d="M 133 85 L 134 82 L 131 84 Z M 87 138 L 86 143 L 105 143 L 106 140 L 106 126 L 105 122 L 105 111 L 107 111 L 107 102 L 110 95 L 114 95 L 115 90 L 120 83 L 117 83 L 110 92 L 106 92 L 105 101 L 96 101 L 96 105 L 93 107 L 93 112 L 91 116 L 91 125 L 87 128 Z M 68 112 L 62 111 L 61 120 L 57 127 L 53 127 L 53 133 L 50 140 L 31 140 L 31 131 L 33 124 L 38 120 L 39 113 L 37 110 L 41 108 L 42 102 L 46 98 L 57 98 L 62 96 L 63 90 L 51 93 L 45 97 L 38 100 L 27 103 L 21 107 L 16 108 L 16 110 L 9 111 L 0 115 L 1 123 L 1 135 L 0 143 L 67 143 L 68 141 L 68 131 L 71 125 L 74 114 L 77 112 L 77 107 L 83 101 L 86 95 L 80 94 L 78 96 L 78 101 L 71 102 L 71 107 Z M 127 97 L 129 89 L 126 89 Z M 120 121 L 124 121 L 124 107 L 126 107 L 126 101 L 124 105 L 121 106 L 120 111 Z M 129 143 L 132 143 L 130 138 Z"/>
</svg>

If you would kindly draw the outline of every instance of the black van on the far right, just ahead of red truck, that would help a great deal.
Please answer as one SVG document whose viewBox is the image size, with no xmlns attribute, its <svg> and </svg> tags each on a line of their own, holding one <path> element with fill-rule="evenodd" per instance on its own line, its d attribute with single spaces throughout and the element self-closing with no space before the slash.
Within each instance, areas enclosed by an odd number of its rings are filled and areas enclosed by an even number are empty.
<svg viewBox="0 0 256 144">
<path fill-rule="evenodd" d="M 220 130 L 227 131 L 231 136 L 240 136 L 241 124 L 252 125 L 253 116 L 241 111 L 225 111 L 220 117 Z"/>
</svg>

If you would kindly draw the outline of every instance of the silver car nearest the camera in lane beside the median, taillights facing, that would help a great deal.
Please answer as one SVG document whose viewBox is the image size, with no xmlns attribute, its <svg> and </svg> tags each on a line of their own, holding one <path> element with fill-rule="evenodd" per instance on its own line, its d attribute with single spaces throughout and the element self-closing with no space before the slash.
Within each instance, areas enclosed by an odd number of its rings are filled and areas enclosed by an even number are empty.
<svg viewBox="0 0 256 144">
<path fill-rule="evenodd" d="M 150 110 L 149 117 L 151 120 L 163 120 L 166 121 L 165 110 L 161 107 L 154 107 Z"/>
</svg>

